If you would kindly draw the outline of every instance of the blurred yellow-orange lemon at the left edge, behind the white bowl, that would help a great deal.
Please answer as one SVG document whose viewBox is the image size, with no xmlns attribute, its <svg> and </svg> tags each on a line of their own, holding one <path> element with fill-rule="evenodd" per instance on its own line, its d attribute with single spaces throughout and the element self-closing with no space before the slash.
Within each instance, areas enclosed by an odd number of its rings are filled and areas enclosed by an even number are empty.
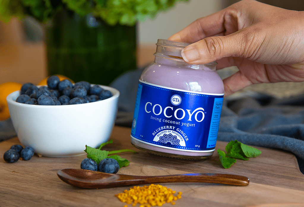
<svg viewBox="0 0 304 207">
<path fill-rule="evenodd" d="M 0 84 L 0 120 L 9 118 L 9 107 L 7 106 L 6 97 L 22 87 L 21 83 L 7 82 Z"/>
</svg>

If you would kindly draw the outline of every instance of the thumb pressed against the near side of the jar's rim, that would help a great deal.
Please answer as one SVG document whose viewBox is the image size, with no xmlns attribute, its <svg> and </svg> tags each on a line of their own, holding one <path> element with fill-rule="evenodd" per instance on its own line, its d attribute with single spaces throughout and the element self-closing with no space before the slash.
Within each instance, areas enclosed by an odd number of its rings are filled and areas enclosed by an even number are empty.
<svg viewBox="0 0 304 207">
<path fill-rule="evenodd" d="M 206 37 L 198 42 L 186 46 L 181 55 L 190 64 L 206 64 L 223 57 L 240 57 L 244 54 L 240 32 L 227 36 Z"/>
</svg>

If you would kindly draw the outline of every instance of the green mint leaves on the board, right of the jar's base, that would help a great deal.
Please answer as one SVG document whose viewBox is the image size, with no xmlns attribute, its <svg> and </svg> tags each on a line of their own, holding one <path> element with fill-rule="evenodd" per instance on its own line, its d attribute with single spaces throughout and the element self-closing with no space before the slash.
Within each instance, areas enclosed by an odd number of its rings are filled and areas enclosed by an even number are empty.
<svg viewBox="0 0 304 207">
<path fill-rule="evenodd" d="M 217 153 L 219 154 L 219 160 L 221 161 L 221 164 L 224 168 L 230 168 L 233 163 L 236 163 L 236 159 L 249 160 L 249 158 L 255 158 L 262 153 L 257 148 L 248 146 L 237 140 L 230 141 L 226 145 L 225 150 L 226 153 L 220 149 L 217 150 Z"/>
</svg>

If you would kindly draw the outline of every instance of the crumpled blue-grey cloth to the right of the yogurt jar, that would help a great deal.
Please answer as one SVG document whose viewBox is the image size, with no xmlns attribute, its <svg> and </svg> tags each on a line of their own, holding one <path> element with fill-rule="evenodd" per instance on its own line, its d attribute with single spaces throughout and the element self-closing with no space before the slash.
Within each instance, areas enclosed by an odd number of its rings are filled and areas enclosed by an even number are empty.
<svg viewBox="0 0 304 207">
<path fill-rule="evenodd" d="M 303 123 L 303 95 L 288 100 L 263 94 L 255 98 L 224 99 L 217 140 L 237 140 L 292 152 L 304 174 Z"/>
</svg>

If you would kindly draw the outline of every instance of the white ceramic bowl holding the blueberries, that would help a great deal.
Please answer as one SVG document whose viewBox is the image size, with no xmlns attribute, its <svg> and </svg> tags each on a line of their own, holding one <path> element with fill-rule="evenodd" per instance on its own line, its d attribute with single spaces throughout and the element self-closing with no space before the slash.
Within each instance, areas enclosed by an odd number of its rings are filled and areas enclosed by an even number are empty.
<svg viewBox="0 0 304 207">
<path fill-rule="evenodd" d="M 6 98 L 19 141 L 47 157 L 85 154 L 85 145 L 98 147 L 109 140 L 115 124 L 119 91 L 92 103 L 40 106 L 16 102 L 19 91 Z"/>
</svg>

